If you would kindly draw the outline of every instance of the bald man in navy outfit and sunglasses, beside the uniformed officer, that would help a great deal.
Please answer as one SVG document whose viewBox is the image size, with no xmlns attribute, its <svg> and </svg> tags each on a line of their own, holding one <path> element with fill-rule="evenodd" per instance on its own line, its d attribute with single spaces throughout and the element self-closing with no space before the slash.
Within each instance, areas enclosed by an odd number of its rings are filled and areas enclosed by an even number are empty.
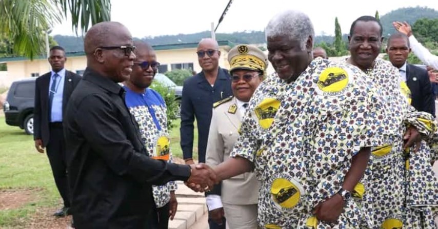
<svg viewBox="0 0 438 229">
<path fill-rule="evenodd" d="M 221 51 L 219 51 L 217 41 L 211 38 L 202 39 L 198 44 L 196 54 L 202 72 L 184 82 L 181 100 L 181 148 L 186 164 L 194 163 L 193 122 L 195 118 L 198 128 L 198 161 L 205 163 L 213 103 L 232 95 L 231 76 L 218 64 Z M 210 229 L 225 228 L 225 223 L 218 225 L 209 220 L 209 224 Z"/>
</svg>

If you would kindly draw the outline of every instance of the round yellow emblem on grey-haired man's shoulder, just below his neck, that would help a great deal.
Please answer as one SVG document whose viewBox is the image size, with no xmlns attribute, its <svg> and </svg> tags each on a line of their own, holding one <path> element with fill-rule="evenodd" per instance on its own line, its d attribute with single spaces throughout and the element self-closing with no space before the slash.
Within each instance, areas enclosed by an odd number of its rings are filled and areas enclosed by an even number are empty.
<svg viewBox="0 0 438 229">
<path fill-rule="evenodd" d="M 318 78 L 318 88 L 323 92 L 340 92 L 347 84 L 347 71 L 339 67 L 325 69 Z"/>
</svg>

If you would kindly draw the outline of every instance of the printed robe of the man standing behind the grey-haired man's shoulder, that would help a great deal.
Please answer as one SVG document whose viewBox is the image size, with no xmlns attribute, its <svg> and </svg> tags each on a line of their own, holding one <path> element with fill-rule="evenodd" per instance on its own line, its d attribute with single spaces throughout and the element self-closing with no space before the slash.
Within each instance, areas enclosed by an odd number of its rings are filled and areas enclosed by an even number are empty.
<svg viewBox="0 0 438 229">
<path fill-rule="evenodd" d="M 435 228 L 432 209 L 438 204 L 438 182 L 430 163 L 431 144 L 423 141 L 418 152 L 403 149 L 409 126 L 430 141 L 436 133 L 434 118 L 409 105 L 409 88 L 389 61 L 376 59 L 366 74 L 382 91 L 387 108 L 381 134 L 388 141 L 373 148 L 371 156 L 373 223 L 378 228 Z"/>
</svg>

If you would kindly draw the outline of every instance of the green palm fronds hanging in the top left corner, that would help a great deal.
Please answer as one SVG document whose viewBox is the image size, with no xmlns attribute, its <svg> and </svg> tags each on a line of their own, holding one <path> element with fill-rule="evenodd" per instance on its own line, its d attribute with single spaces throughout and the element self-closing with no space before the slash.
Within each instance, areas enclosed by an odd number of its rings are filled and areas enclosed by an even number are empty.
<svg viewBox="0 0 438 229">
<path fill-rule="evenodd" d="M 68 15 L 74 31 L 110 20 L 110 0 L 0 0 L 0 34 L 16 55 L 33 58 L 45 53 L 45 34 Z"/>
</svg>

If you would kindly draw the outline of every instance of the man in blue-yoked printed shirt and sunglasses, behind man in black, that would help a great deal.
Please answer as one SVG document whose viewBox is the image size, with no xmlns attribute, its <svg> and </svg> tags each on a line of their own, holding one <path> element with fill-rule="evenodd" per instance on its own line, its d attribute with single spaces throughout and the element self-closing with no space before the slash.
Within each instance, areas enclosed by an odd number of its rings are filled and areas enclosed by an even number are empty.
<svg viewBox="0 0 438 229">
<path fill-rule="evenodd" d="M 140 128 L 147 154 L 158 160 L 172 162 L 170 136 L 167 130 L 166 102 L 158 92 L 148 88 L 160 63 L 151 46 L 134 41 L 135 60 L 129 80 L 125 81 L 125 101 Z M 153 185 L 153 198 L 158 213 L 158 228 L 168 228 L 169 217 L 173 220 L 177 201 L 175 181 L 165 185 Z"/>
</svg>

